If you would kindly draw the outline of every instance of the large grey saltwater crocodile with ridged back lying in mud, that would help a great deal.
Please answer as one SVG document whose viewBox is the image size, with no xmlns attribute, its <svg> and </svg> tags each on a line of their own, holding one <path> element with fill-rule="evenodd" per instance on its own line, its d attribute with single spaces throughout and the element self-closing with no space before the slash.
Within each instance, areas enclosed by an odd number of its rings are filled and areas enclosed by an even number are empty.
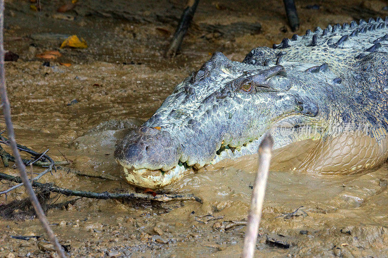
<svg viewBox="0 0 388 258">
<path fill-rule="evenodd" d="M 350 173 L 388 157 L 388 17 L 293 35 L 242 62 L 220 52 L 115 150 L 127 180 L 160 188 L 189 168 L 257 152 L 273 169 Z"/>
</svg>

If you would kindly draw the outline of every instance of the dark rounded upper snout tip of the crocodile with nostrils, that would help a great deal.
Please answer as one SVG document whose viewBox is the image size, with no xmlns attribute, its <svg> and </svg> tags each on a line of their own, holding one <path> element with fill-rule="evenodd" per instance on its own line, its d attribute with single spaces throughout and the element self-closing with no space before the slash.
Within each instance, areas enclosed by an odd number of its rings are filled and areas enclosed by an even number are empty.
<svg viewBox="0 0 388 258">
<path fill-rule="evenodd" d="M 130 132 L 116 147 L 115 158 L 128 169 L 168 171 L 176 167 L 180 144 L 169 132 L 158 129 L 141 126 Z"/>
</svg>

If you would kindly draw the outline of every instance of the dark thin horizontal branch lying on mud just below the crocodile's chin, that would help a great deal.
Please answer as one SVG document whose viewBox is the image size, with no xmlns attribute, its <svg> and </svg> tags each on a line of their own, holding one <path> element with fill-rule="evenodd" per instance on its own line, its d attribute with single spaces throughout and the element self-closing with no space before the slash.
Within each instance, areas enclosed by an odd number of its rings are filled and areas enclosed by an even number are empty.
<svg viewBox="0 0 388 258">
<path fill-rule="evenodd" d="M 21 182 L 19 177 L 14 177 L 8 174 L 0 173 L 0 180 L 7 180 L 12 182 Z M 70 190 L 66 188 L 61 188 L 53 183 L 40 183 L 32 182 L 32 186 L 35 188 L 43 189 L 47 192 L 60 193 L 65 196 L 78 196 L 78 197 L 87 197 L 93 199 L 142 199 L 142 200 L 153 200 L 153 201 L 182 201 L 182 200 L 195 200 L 199 203 L 202 203 L 202 200 L 193 194 L 157 194 L 155 197 L 149 194 L 139 194 L 139 193 L 94 193 L 88 191 L 77 191 Z"/>
</svg>

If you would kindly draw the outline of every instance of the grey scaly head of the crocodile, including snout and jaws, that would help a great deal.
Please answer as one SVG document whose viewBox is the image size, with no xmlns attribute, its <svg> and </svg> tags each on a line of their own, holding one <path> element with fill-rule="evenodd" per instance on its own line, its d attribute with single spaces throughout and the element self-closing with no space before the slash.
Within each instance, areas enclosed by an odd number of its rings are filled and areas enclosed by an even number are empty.
<svg viewBox="0 0 388 258">
<path fill-rule="evenodd" d="M 130 183 L 155 189 L 177 181 L 188 167 L 256 153 L 268 129 L 319 120 L 317 100 L 298 82 L 304 70 L 294 67 L 290 78 L 282 65 L 230 61 L 216 52 L 118 144 L 116 161 Z M 279 134 L 275 147 L 298 137 Z"/>
</svg>

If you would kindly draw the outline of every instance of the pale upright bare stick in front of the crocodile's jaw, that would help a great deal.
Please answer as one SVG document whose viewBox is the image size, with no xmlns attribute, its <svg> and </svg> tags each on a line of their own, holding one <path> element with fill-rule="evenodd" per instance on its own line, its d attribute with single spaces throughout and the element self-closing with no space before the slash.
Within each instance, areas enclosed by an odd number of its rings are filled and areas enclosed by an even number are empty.
<svg viewBox="0 0 388 258">
<path fill-rule="evenodd" d="M 255 185 L 253 186 L 251 209 L 245 231 L 242 258 L 252 258 L 254 255 L 273 146 L 274 140 L 271 135 L 267 133 L 259 146 L 259 168 Z"/>
</svg>

